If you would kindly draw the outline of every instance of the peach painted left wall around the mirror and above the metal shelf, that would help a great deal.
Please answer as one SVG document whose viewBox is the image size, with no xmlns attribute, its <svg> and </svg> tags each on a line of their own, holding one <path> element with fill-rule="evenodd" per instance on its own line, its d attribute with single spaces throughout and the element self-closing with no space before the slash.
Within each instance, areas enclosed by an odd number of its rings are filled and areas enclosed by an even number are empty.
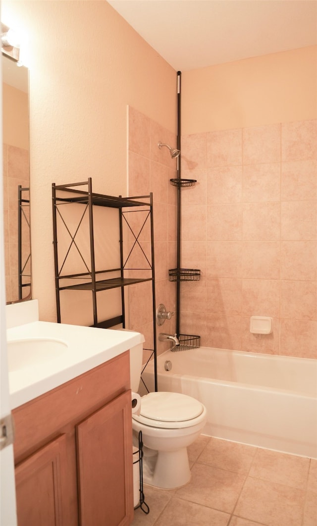
<svg viewBox="0 0 317 526">
<path fill-rule="evenodd" d="M 105 1 L 4 0 L 2 18 L 29 38 L 33 296 L 55 321 L 52 183 L 126 194 L 127 105 L 175 133 L 177 74 Z M 72 305 L 89 323 L 89 298 Z"/>
</svg>

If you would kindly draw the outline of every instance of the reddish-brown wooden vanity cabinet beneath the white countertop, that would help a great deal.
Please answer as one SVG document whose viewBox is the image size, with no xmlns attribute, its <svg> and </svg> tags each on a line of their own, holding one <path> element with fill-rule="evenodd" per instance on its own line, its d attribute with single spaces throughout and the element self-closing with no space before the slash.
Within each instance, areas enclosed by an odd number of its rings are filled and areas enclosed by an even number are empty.
<svg viewBox="0 0 317 526">
<path fill-rule="evenodd" d="M 129 353 L 13 410 L 18 526 L 133 519 Z"/>
</svg>

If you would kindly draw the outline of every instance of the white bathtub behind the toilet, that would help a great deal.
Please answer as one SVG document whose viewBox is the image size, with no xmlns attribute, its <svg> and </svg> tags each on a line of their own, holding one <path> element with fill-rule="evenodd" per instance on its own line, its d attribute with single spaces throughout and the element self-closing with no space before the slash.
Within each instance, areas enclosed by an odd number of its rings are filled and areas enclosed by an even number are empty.
<svg viewBox="0 0 317 526">
<path fill-rule="evenodd" d="M 164 352 L 157 371 L 159 391 L 206 406 L 204 434 L 317 458 L 317 360 L 200 347 Z M 153 378 L 150 362 L 142 373 L 149 390 Z"/>
</svg>

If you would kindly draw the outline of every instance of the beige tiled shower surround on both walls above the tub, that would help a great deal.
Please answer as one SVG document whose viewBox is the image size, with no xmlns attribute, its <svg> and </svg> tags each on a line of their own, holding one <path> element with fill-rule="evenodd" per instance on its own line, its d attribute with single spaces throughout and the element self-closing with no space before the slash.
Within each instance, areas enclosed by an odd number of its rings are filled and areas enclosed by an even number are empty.
<svg viewBox="0 0 317 526">
<path fill-rule="evenodd" d="M 201 345 L 317 358 L 316 124 L 182 136 L 181 177 L 197 184 L 181 190 L 181 267 L 201 279 L 181 284 L 181 332 Z M 129 195 L 154 193 L 156 303 L 173 310 L 176 161 L 159 140 L 176 145 L 130 108 Z M 272 333 L 251 334 L 250 316 L 273 318 Z M 171 320 L 163 331 L 174 328 Z"/>
</svg>

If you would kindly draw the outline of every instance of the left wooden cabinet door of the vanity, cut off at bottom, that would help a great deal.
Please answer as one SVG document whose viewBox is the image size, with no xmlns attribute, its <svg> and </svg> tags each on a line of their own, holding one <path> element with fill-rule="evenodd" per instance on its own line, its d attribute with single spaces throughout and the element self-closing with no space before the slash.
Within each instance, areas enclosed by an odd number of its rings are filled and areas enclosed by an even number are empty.
<svg viewBox="0 0 317 526">
<path fill-rule="evenodd" d="M 63 526 L 66 438 L 56 438 L 15 468 L 18 526 Z"/>
</svg>

